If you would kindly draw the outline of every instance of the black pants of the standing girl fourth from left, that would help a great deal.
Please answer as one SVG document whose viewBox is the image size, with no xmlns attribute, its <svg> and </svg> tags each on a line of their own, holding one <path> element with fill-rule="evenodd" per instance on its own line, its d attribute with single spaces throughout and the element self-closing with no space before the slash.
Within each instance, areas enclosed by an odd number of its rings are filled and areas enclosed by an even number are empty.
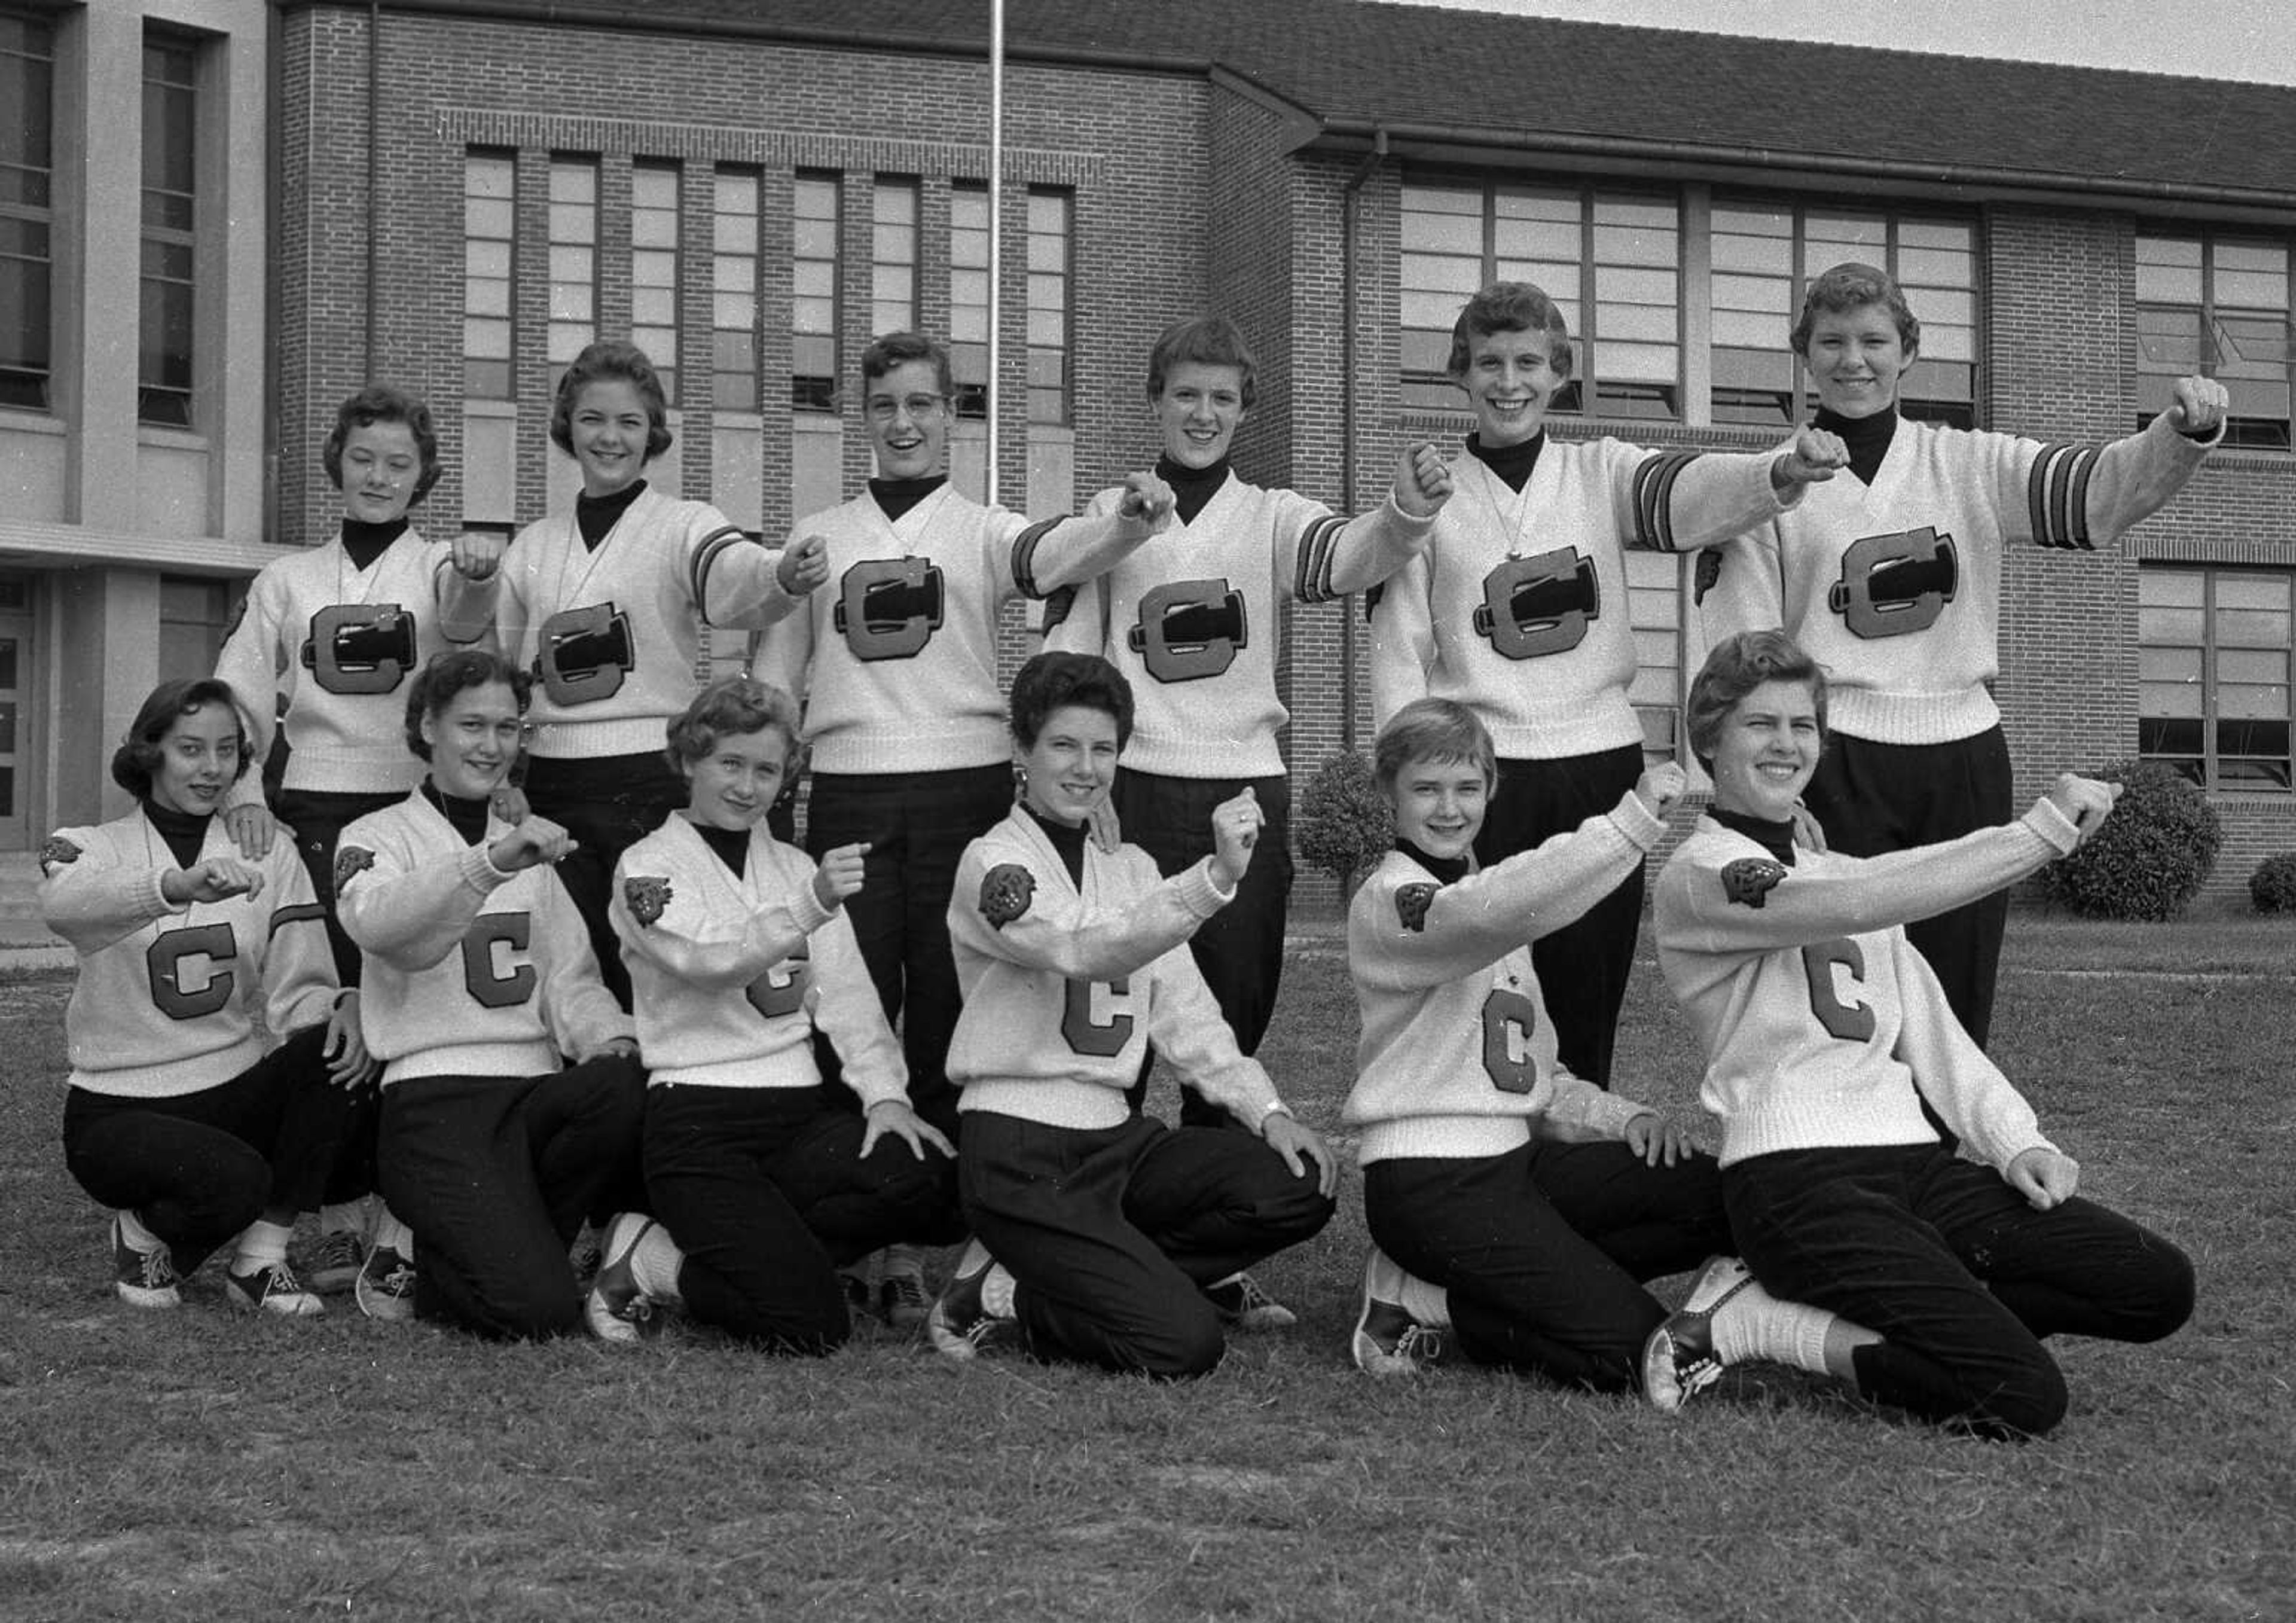
<svg viewBox="0 0 2296 1623">
<path fill-rule="evenodd" d="M 1118 771 L 1114 806 L 1125 840 L 1155 859 L 1166 879 L 1194 868 L 1212 854 L 1212 808 L 1251 787 L 1258 794 L 1267 826 L 1251 852 L 1251 865 L 1235 886 L 1235 900 L 1203 921 L 1187 946 L 1196 955 L 1203 983 L 1219 1001 L 1219 1015 L 1235 1033 L 1235 1047 L 1258 1054 L 1267 1022 L 1277 1012 L 1277 987 L 1283 983 L 1283 909 L 1290 902 L 1290 778 L 1164 778 L 1153 771 Z M 1148 1074 L 1155 1049 L 1141 1065 L 1141 1077 L 1125 1095 L 1139 1111 L 1148 1102 Z M 1182 1127 L 1242 1127 L 1224 1106 L 1180 1084 Z"/>
</svg>

